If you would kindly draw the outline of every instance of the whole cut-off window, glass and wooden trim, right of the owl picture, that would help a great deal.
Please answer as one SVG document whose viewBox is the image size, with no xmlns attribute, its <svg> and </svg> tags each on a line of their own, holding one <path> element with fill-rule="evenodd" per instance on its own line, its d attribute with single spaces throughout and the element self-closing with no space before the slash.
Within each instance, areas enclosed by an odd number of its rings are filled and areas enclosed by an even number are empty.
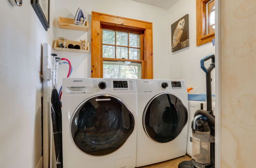
<svg viewBox="0 0 256 168">
<path fill-rule="evenodd" d="M 215 0 L 197 0 L 197 46 L 215 38 Z"/>
</svg>

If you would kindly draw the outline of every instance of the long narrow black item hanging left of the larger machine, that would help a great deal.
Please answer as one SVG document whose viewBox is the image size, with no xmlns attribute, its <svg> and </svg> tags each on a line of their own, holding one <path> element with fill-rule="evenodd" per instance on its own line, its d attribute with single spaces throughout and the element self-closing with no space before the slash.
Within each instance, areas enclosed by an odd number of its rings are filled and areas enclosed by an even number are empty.
<svg viewBox="0 0 256 168">
<path fill-rule="evenodd" d="M 62 168 L 62 122 L 61 122 L 61 104 L 59 101 L 58 91 L 52 90 L 51 97 L 51 116 L 52 116 L 52 128 L 53 138 L 55 146 L 55 156 L 57 168 Z"/>
</svg>

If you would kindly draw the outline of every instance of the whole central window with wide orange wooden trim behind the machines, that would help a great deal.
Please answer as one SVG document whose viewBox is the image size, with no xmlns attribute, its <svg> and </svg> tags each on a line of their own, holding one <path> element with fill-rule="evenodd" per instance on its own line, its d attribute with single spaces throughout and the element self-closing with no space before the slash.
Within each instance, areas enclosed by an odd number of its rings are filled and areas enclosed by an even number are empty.
<svg viewBox="0 0 256 168">
<path fill-rule="evenodd" d="M 153 78 L 152 23 L 92 13 L 92 77 Z"/>
</svg>

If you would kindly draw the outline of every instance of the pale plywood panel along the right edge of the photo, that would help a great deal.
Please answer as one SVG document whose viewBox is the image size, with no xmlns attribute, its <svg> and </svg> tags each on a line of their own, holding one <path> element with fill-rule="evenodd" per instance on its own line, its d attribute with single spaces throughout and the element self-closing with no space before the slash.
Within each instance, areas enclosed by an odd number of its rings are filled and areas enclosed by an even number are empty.
<svg viewBox="0 0 256 168">
<path fill-rule="evenodd" d="M 221 1 L 221 167 L 256 165 L 256 1 Z"/>
</svg>

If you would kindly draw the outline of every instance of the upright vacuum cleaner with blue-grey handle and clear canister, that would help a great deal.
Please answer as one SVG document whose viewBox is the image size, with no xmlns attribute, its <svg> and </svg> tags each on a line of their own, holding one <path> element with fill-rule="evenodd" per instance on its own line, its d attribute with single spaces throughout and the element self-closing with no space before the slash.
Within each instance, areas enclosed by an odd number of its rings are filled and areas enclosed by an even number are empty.
<svg viewBox="0 0 256 168">
<path fill-rule="evenodd" d="M 204 62 L 211 59 L 206 69 Z M 215 55 L 201 60 L 201 68 L 206 73 L 207 110 L 198 109 L 192 121 L 192 160 L 182 161 L 178 168 L 214 168 L 215 167 L 215 116 L 211 103 L 211 71 L 215 68 Z"/>
</svg>

